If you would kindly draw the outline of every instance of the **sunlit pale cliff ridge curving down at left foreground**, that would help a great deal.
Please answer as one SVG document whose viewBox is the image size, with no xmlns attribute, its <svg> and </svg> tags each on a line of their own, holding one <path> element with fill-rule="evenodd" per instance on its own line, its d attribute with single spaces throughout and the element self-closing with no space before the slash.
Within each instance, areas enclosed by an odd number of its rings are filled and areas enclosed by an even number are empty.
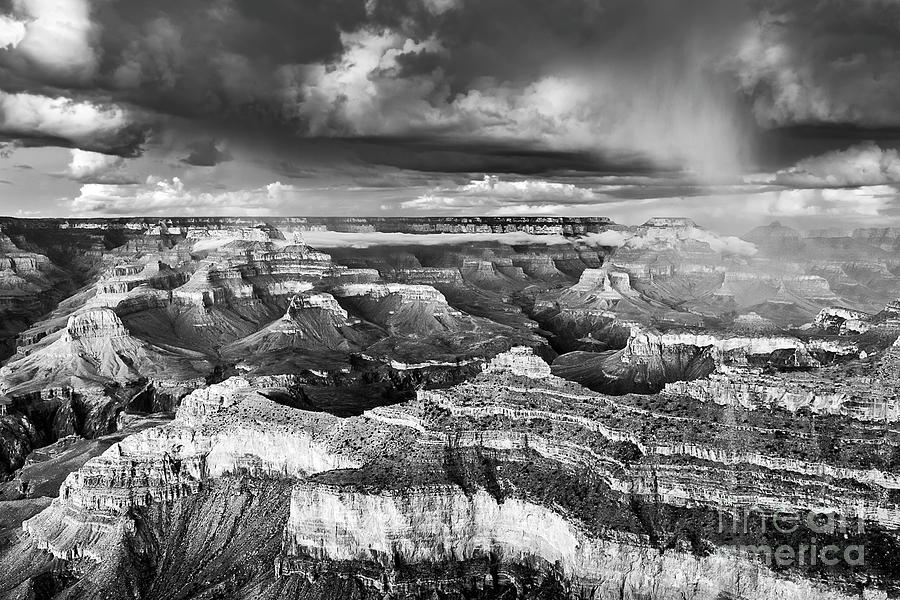
<svg viewBox="0 0 900 600">
<path fill-rule="evenodd" d="M 195 494 L 211 477 L 299 477 L 358 466 L 314 439 L 315 423 L 327 416 L 299 415 L 308 428 L 242 379 L 198 390 L 171 424 L 128 437 L 69 475 L 59 498 L 23 527 L 54 556 L 100 561 L 133 526 L 133 509 Z"/>
</svg>

